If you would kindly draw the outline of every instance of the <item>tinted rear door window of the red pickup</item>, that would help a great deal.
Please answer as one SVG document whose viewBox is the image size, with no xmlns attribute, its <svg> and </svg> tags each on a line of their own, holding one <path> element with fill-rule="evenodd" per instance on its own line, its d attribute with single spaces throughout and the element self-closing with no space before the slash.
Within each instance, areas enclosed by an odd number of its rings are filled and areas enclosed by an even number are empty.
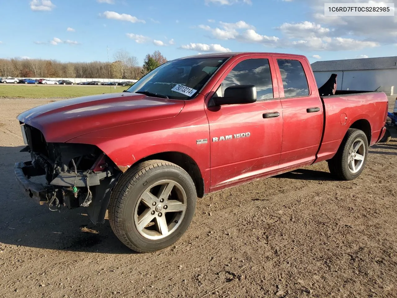
<svg viewBox="0 0 397 298">
<path fill-rule="evenodd" d="M 284 97 L 309 95 L 306 74 L 298 60 L 277 59 L 283 80 Z"/>
</svg>

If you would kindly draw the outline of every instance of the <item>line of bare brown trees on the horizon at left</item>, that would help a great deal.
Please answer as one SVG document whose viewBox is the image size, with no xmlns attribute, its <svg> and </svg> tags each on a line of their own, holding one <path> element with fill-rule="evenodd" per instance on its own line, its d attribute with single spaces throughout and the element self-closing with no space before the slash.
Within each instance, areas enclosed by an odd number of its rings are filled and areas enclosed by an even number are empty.
<svg viewBox="0 0 397 298">
<path fill-rule="evenodd" d="M 111 79 L 140 79 L 154 68 L 167 62 L 167 59 L 155 51 L 147 54 L 144 64 L 126 50 L 114 54 L 113 62 L 60 62 L 44 59 L 0 59 L 0 77 L 84 77 Z"/>
</svg>

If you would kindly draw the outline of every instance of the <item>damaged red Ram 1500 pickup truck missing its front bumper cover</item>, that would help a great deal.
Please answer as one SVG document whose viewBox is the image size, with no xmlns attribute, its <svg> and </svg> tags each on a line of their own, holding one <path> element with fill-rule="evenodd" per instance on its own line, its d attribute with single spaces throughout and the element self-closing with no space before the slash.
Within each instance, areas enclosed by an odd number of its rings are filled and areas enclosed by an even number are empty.
<svg viewBox="0 0 397 298">
<path fill-rule="evenodd" d="M 172 60 L 122 93 L 20 114 L 31 161 L 15 175 L 49 208 L 85 207 L 93 223 L 108 210 L 123 244 L 160 250 L 187 230 L 205 194 L 320 161 L 337 179 L 357 178 L 385 133 L 387 97 L 324 86 L 320 94 L 299 55 Z M 46 184 L 29 180 L 40 175 Z"/>
</svg>

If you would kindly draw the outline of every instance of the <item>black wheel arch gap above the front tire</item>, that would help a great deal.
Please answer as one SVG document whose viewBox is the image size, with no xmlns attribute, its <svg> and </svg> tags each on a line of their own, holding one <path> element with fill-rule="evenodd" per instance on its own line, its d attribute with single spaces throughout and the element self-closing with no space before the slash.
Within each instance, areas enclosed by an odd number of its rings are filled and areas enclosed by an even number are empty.
<svg viewBox="0 0 397 298">
<path fill-rule="evenodd" d="M 134 164 L 131 164 L 131 166 L 142 163 L 143 161 L 150 161 L 152 159 L 168 161 L 183 168 L 183 170 L 185 170 L 192 178 L 197 190 L 197 196 L 200 198 L 204 196 L 204 180 L 202 178 L 200 168 L 192 157 L 178 151 L 166 151 L 148 155 L 142 159 L 139 159 Z"/>
</svg>

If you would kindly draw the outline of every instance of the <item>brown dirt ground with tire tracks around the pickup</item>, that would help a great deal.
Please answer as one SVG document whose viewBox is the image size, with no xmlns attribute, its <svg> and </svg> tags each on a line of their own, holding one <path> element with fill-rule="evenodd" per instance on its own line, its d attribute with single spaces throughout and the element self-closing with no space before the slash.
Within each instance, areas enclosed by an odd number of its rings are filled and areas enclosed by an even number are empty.
<svg viewBox="0 0 397 298">
<path fill-rule="evenodd" d="M 319 163 L 208 195 L 179 242 L 139 254 L 18 188 L 15 117 L 49 101 L 0 99 L 0 297 L 397 297 L 395 128 L 357 180 Z"/>
</svg>

